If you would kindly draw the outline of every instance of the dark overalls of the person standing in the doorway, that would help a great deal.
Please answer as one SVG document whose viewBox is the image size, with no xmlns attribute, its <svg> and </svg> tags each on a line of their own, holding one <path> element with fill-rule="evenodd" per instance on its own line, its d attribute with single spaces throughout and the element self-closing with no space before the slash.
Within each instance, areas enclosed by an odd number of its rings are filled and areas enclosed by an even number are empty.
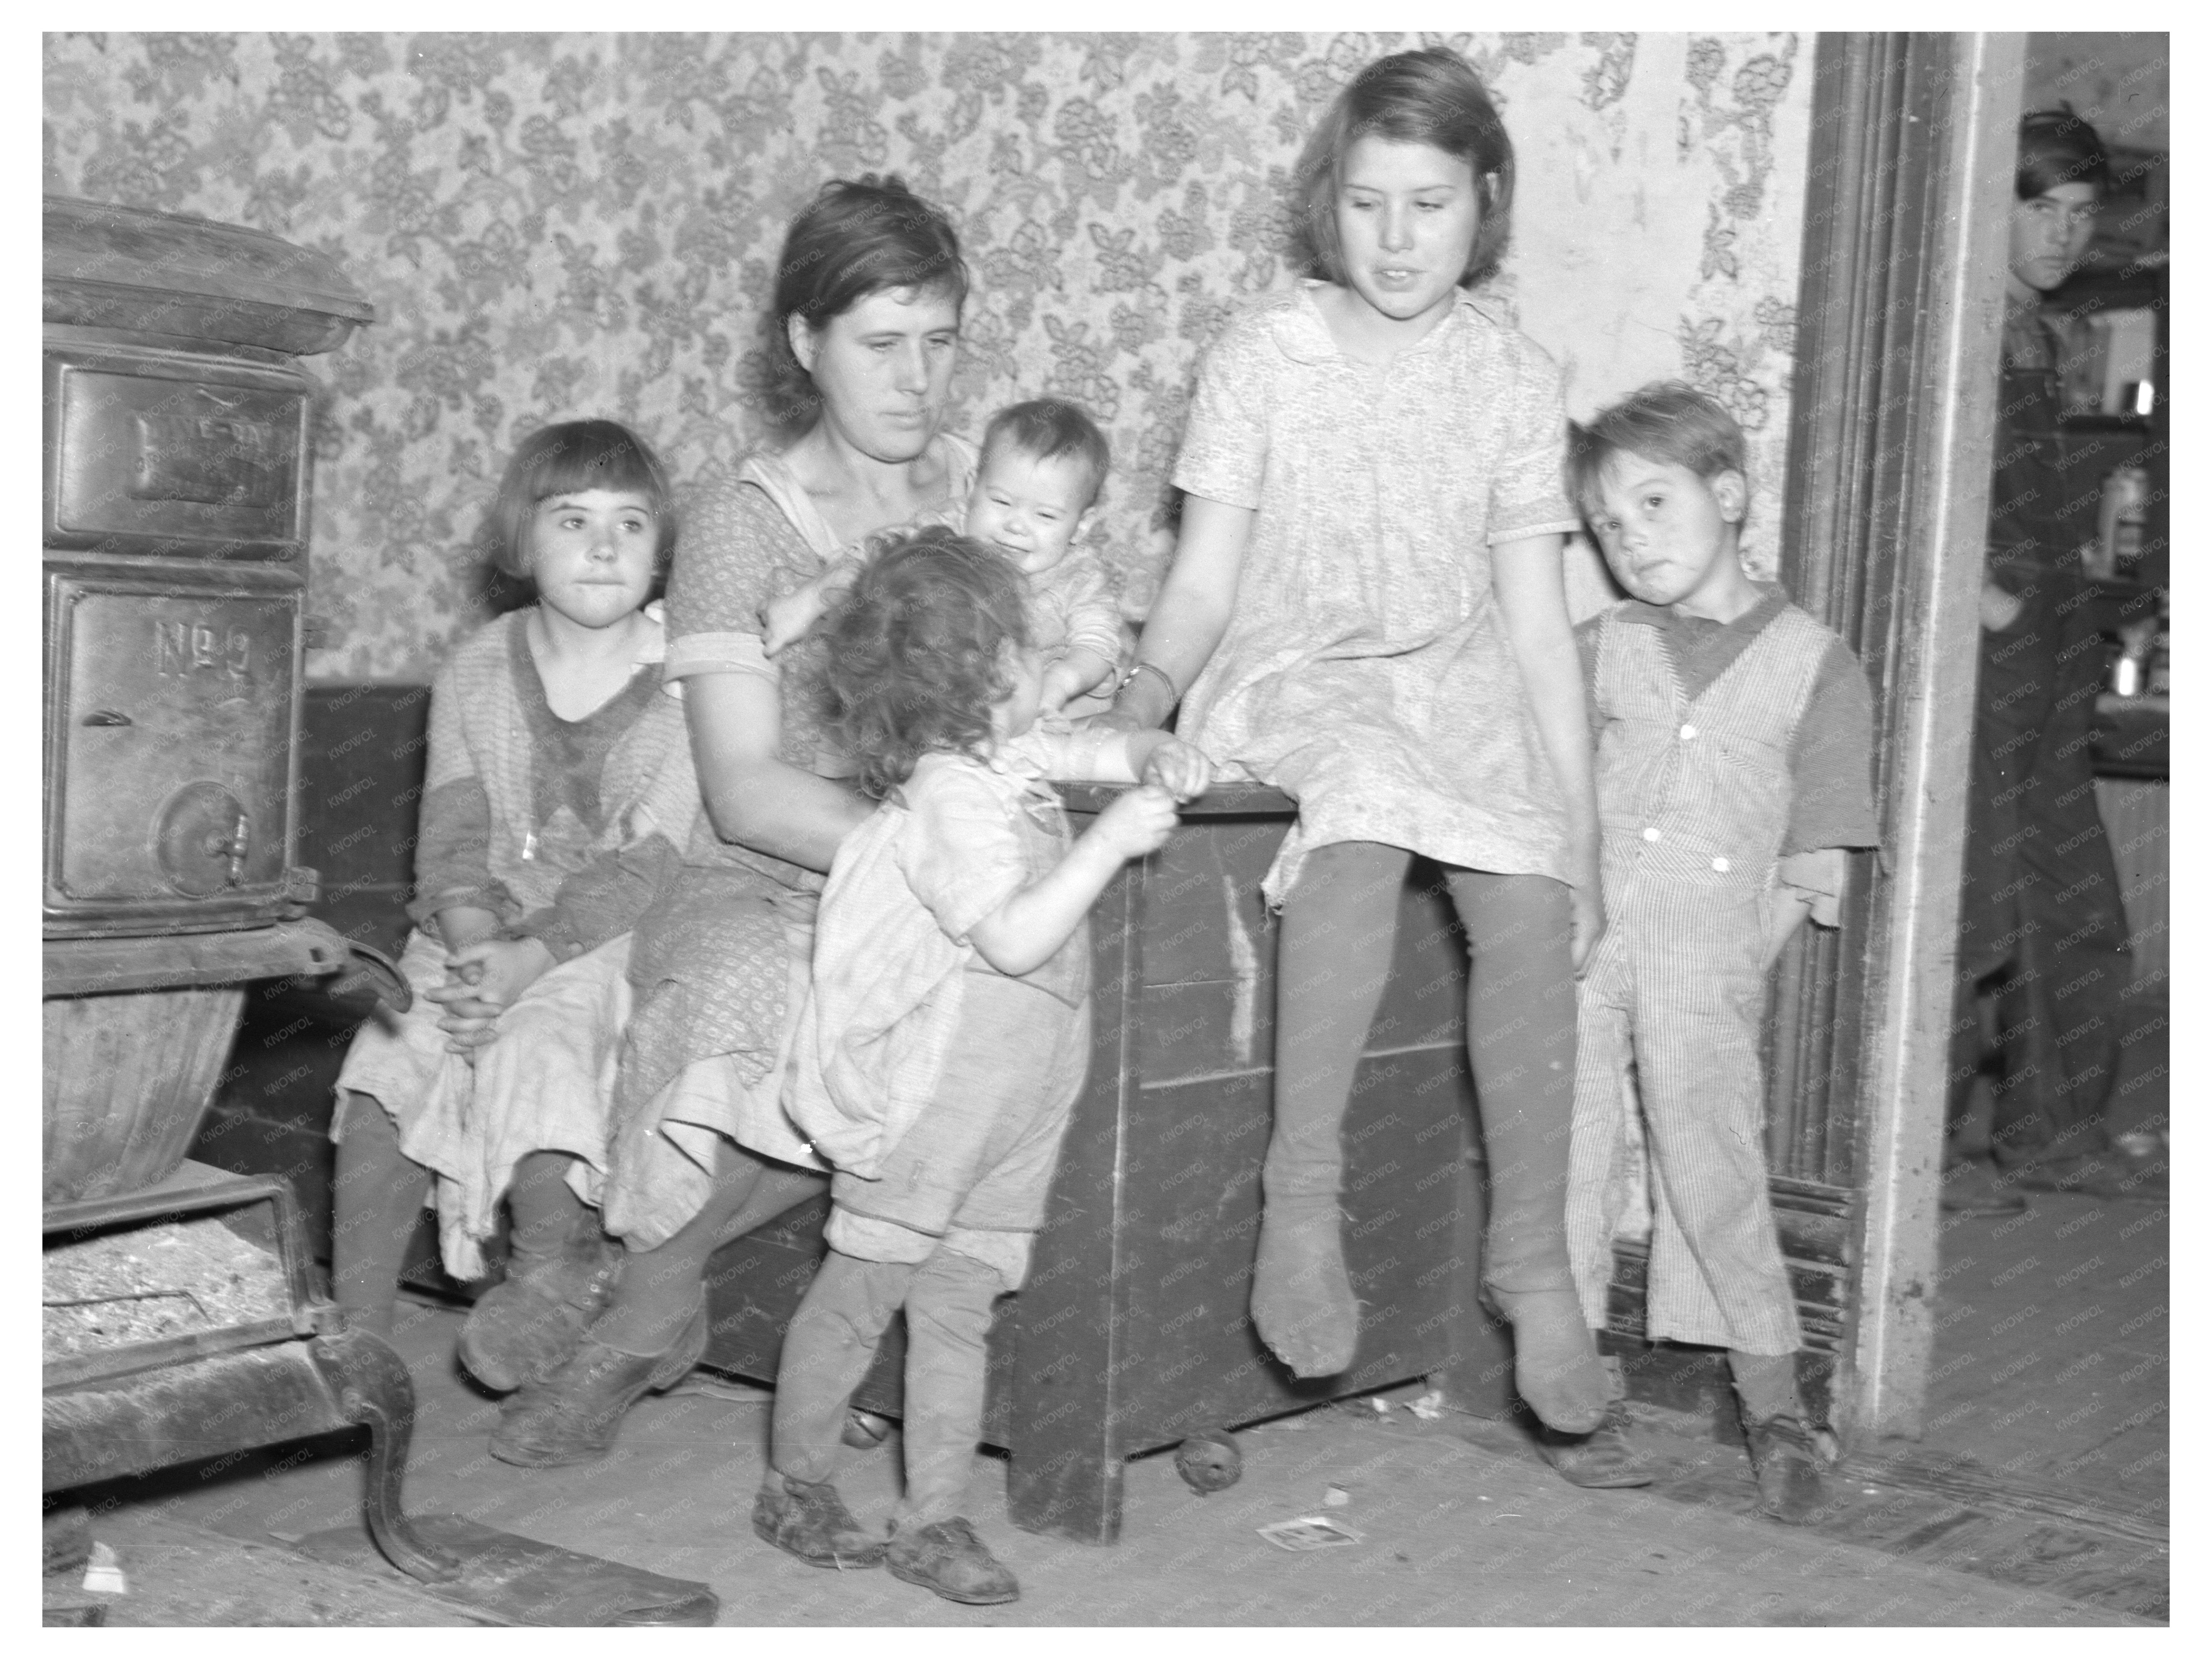
<svg viewBox="0 0 2212 1659">
<path fill-rule="evenodd" d="M 2097 814 L 2090 723 L 2106 653 L 2079 560 L 2097 535 L 2104 480 L 2059 425 L 2057 352 L 2042 321 L 2015 312 L 2004 347 L 1986 573 L 2022 613 L 2004 633 L 1982 630 L 1951 1128 L 1982 1062 L 1975 991 L 2002 975 L 1991 1139 L 2000 1161 L 2026 1164 L 2106 1146 L 2128 925 Z"/>
</svg>

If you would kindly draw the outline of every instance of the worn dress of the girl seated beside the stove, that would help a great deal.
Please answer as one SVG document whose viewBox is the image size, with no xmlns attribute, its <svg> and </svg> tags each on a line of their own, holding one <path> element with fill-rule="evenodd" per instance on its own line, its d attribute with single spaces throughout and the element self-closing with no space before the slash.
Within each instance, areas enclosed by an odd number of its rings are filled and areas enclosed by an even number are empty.
<svg viewBox="0 0 2212 1659">
<path fill-rule="evenodd" d="M 677 874 L 699 812 L 684 706 L 664 695 L 659 606 L 630 684 L 580 721 L 551 710 L 515 611 L 438 670 L 416 841 L 416 931 L 400 971 L 416 1002 L 380 1009 L 338 1071 L 438 1177 L 440 1250 L 458 1279 L 484 1272 L 500 1197 L 533 1150 L 573 1155 L 571 1186 L 597 1201 L 608 1102 L 628 1013 L 630 927 Z M 487 909 L 509 938 L 538 938 L 555 967 L 500 1013 L 473 1055 L 447 1051 L 445 947 L 429 920 Z M 332 1124 L 332 1137 L 343 1121 Z"/>
</svg>

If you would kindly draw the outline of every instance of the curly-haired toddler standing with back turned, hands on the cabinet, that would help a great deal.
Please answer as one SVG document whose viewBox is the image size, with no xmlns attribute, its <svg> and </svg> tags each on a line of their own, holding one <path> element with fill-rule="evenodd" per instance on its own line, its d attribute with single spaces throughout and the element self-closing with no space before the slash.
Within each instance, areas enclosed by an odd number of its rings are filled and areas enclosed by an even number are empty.
<svg viewBox="0 0 2212 1659">
<path fill-rule="evenodd" d="M 1013 1601 L 962 1520 L 991 1303 L 1018 1290 L 1091 1055 L 1086 916 L 1159 847 L 1203 754 L 1166 732 L 1044 732 L 1022 573 L 929 529 L 830 622 L 827 684 L 860 787 L 836 852 L 787 1095 L 836 1166 L 830 1256 L 776 1367 L 754 1531 L 814 1566 L 876 1566 L 951 1601 Z M 1144 787 L 1071 843 L 1048 776 Z M 832 1484 L 845 1402 L 907 1312 L 907 1495 L 889 1540 Z"/>
</svg>

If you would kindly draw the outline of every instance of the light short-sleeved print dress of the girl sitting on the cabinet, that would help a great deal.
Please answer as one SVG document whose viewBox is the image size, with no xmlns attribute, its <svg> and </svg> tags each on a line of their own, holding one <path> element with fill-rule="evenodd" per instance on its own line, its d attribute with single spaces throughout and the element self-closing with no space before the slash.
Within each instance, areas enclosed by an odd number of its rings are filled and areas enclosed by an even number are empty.
<svg viewBox="0 0 2212 1659">
<path fill-rule="evenodd" d="M 1336 841 L 1568 880 L 1491 586 L 1491 546 L 1577 524 L 1559 369 L 1464 292 L 1387 367 L 1354 363 L 1316 288 L 1232 321 L 1199 374 L 1175 484 L 1256 515 L 1177 734 L 1298 799 L 1274 902 Z"/>
</svg>

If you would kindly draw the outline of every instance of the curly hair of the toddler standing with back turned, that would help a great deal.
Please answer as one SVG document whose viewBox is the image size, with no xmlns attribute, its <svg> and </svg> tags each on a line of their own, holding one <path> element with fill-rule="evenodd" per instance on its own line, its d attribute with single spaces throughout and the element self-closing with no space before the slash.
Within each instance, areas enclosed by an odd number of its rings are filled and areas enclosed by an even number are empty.
<svg viewBox="0 0 2212 1659">
<path fill-rule="evenodd" d="M 827 639 L 830 717 L 880 801 L 931 750 L 984 752 L 1011 690 L 1000 655 L 1031 641 L 1026 584 L 995 549 L 929 526 L 869 560 Z"/>
</svg>

